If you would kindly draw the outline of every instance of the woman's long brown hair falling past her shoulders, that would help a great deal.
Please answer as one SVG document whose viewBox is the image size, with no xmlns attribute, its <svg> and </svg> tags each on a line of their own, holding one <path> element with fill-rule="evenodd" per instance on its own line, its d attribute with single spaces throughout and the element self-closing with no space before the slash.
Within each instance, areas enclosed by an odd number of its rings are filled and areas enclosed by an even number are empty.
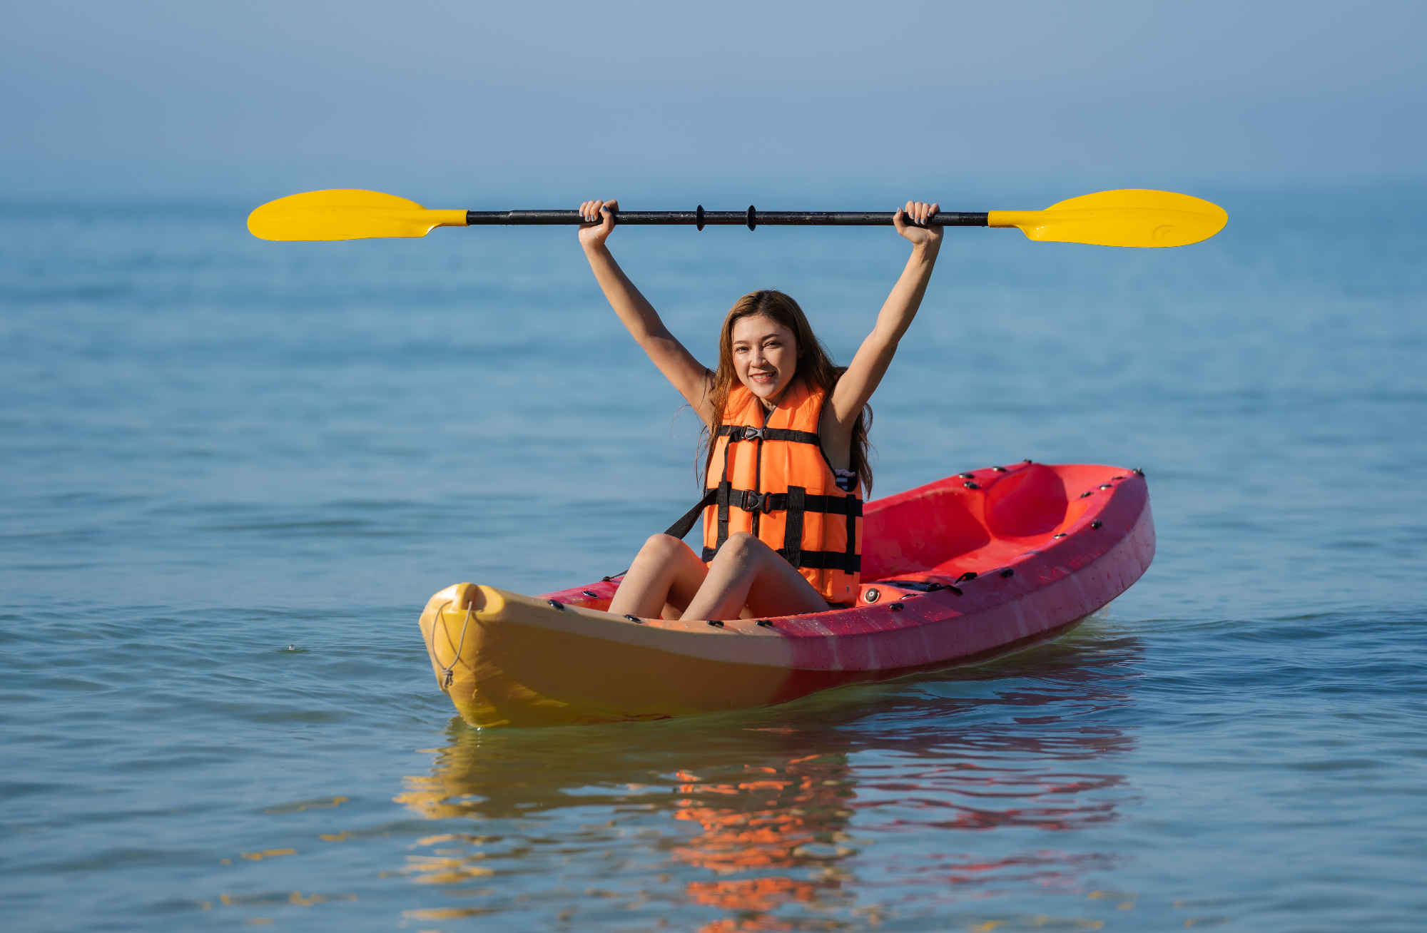
<svg viewBox="0 0 1427 933">
<path fill-rule="evenodd" d="M 766 288 L 763 291 L 751 291 L 735 301 L 733 307 L 728 310 L 728 317 L 723 318 L 723 330 L 719 332 L 718 340 L 718 371 L 714 372 L 714 384 L 709 388 L 709 404 L 714 407 L 714 415 L 709 424 L 704 425 L 704 434 L 699 438 L 699 449 L 706 451 L 704 455 L 704 474 L 699 478 L 704 486 L 708 486 L 709 469 L 714 462 L 714 438 L 718 437 L 718 428 L 723 424 L 728 394 L 738 382 L 738 372 L 733 369 L 733 324 L 739 318 L 759 314 L 782 324 L 793 332 L 798 341 L 798 368 L 793 371 L 793 378 L 801 377 L 811 388 L 819 388 L 831 394 L 832 387 L 848 371 L 848 367 L 833 365 L 828 348 L 812 332 L 808 315 L 802 312 L 796 301 L 783 292 Z M 852 458 L 849 464 L 852 472 L 858 474 L 858 479 L 862 482 L 863 498 L 872 492 L 872 464 L 869 458 L 872 447 L 868 444 L 868 428 L 870 427 L 872 405 L 863 405 L 862 411 L 858 412 L 858 419 L 852 424 Z"/>
</svg>

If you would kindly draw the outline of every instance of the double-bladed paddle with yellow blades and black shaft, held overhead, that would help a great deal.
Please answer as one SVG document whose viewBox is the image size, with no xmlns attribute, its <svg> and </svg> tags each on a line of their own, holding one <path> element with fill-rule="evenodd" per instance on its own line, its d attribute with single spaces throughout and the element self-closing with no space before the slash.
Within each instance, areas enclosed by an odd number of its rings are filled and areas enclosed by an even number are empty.
<svg viewBox="0 0 1427 933">
<path fill-rule="evenodd" d="M 618 211 L 619 224 L 773 227 L 890 227 L 892 211 Z M 434 211 L 380 191 L 332 188 L 268 201 L 248 214 L 263 240 L 425 237 L 437 227 L 581 224 L 579 211 Z M 1229 214 L 1209 201 L 1147 188 L 1083 194 L 1043 211 L 939 211 L 932 227 L 1017 227 L 1032 240 L 1102 247 L 1183 247 L 1209 240 Z"/>
</svg>

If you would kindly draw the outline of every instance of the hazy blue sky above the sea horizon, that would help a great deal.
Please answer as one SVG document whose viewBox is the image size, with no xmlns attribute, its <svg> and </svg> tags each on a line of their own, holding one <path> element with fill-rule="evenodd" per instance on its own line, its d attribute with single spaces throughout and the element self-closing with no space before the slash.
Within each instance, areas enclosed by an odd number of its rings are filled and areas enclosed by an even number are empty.
<svg viewBox="0 0 1427 933">
<path fill-rule="evenodd" d="M 10 0 L 0 187 L 852 208 L 829 198 L 1420 178 L 1424 37 L 1420 0 Z"/>
</svg>

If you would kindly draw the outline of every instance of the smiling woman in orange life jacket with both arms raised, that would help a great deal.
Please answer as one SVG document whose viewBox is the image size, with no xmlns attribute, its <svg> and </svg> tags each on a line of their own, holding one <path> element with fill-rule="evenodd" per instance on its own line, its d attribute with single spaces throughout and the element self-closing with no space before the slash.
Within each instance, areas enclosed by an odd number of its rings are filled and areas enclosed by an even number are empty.
<svg viewBox="0 0 1427 933">
<path fill-rule="evenodd" d="M 579 244 L 614 307 L 654 365 L 706 429 L 704 554 L 654 535 L 609 612 L 735 619 L 825 612 L 858 596 L 862 498 L 872 486 L 863 409 L 910 327 L 936 265 L 936 204 L 893 217 L 912 257 L 846 369 L 832 365 L 798 304 L 776 291 L 739 298 L 723 320 L 711 371 L 664 327 L 605 241 L 618 201 L 585 201 Z M 912 223 L 908 223 L 910 218 Z"/>
</svg>

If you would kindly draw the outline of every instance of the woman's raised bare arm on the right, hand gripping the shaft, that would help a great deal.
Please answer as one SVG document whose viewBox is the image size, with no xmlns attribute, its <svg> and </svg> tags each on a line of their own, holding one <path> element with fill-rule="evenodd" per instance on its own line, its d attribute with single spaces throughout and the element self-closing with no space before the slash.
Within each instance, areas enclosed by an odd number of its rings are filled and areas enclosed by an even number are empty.
<svg viewBox="0 0 1427 933">
<path fill-rule="evenodd" d="M 852 439 L 852 425 L 858 419 L 862 407 L 872 398 L 882 377 L 886 375 L 892 357 L 896 355 L 898 341 L 912 325 L 916 310 L 922 307 L 922 295 L 926 294 L 926 282 L 932 278 L 932 268 L 936 265 L 936 254 L 942 248 L 940 227 L 913 227 L 905 217 L 912 217 L 919 224 L 935 214 L 936 204 L 922 201 L 908 201 L 899 210 L 892 223 L 896 231 L 912 241 L 912 257 L 902 270 L 902 278 L 892 287 L 892 294 L 882 302 L 878 322 L 862 341 L 848 371 L 838 379 L 832 391 L 832 404 L 823 414 L 823 444 L 831 449 L 843 449 Z"/>
</svg>

